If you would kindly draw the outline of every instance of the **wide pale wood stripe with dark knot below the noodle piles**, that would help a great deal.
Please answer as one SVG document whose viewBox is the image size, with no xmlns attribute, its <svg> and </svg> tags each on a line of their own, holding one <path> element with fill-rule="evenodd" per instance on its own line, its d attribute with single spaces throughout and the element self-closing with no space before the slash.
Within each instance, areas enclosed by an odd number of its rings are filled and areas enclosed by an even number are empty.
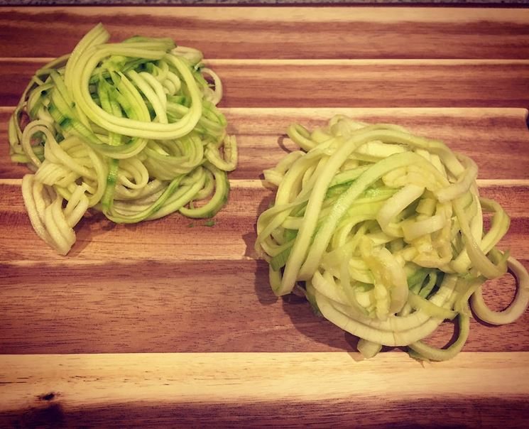
<svg viewBox="0 0 529 429">
<path fill-rule="evenodd" d="M 403 397 L 413 402 L 529 395 L 529 352 L 467 352 L 424 365 L 403 353 L 368 360 L 343 352 L 4 355 L 0 366 L 9 368 L 0 374 L 4 412 L 46 401 L 68 413 L 138 402 L 244 407 L 260 401 L 391 403 Z"/>
</svg>

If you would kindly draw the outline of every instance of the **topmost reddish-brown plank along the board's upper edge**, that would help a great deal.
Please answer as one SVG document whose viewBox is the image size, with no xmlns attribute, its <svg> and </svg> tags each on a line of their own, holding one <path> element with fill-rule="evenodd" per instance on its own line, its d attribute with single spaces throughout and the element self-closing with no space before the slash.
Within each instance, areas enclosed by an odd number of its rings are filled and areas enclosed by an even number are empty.
<svg viewBox="0 0 529 429">
<path fill-rule="evenodd" d="M 0 56 L 62 55 L 100 21 L 112 40 L 171 37 L 207 58 L 529 56 L 527 9 L 336 6 L 4 7 Z"/>
</svg>

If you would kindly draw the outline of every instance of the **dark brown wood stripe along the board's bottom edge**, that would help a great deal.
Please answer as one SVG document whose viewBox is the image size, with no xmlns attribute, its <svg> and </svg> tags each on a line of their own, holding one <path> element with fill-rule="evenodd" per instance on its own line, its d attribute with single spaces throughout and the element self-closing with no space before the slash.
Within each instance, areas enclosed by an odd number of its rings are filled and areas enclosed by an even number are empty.
<svg viewBox="0 0 529 429">
<path fill-rule="evenodd" d="M 351 362 L 354 368 L 354 362 Z M 352 370 L 352 369 L 351 369 Z M 426 371 L 425 371 L 426 373 Z M 315 375 L 314 375 L 315 376 Z M 431 379 L 430 379 L 431 380 Z M 430 381 L 425 379 L 425 382 Z M 299 380 L 300 384 L 305 384 Z M 250 385 L 251 387 L 251 385 Z M 509 428 L 525 428 L 527 403 L 523 398 L 418 398 L 410 401 L 393 401 L 348 397 L 327 401 L 255 401 L 232 403 L 212 401 L 147 405 L 138 403 L 113 403 L 111 406 L 83 406 L 72 409 L 58 396 L 47 403 L 41 400 L 36 406 L 0 414 L 0 423 L 6 427 L 48 427 L 56 425 L 102 425 L 166 428 L 173 425 L 204 425 L 230 428 L 263 427 L 305 428 L 317 421 L 318 428 L 336 428 L 351 425 L 364 428 L 422 428 L 432 421 L 444 421 L 450 416 L 454 428 L 498 428 L 509 422 Z M 65 403 L 65 405 L 63 405 Z M 427 409 L 420 413 L 418 409 Z M 377 422 L 373 425 L 373 422 Z M 479 423 L 478 423 L 479 422 Z"/>
</svg>

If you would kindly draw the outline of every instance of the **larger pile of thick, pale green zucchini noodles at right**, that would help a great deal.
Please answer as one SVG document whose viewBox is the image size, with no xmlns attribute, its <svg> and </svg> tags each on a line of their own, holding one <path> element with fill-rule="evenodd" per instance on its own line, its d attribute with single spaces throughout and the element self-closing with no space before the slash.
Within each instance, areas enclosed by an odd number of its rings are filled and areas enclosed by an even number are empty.
<svg viewBox="0 0 529 429">
<path fill-rule="evenodd" d="M 470 158 L 401 126 L 341 115 L 314 131 L 293 124 L 288 136 L 301 150 L 264 171 L 276 199 L 257 221 L 256 251 L 276 295 L 301 290 L 316 313 L 360 338 L 365 357 L 406 346 L 413 357 L 450 359 L 467 340 L 470 306 L 493 324 L 525 312 L 528 273 L 496 248 L 510 218 L 479 196 Z M 508 267 L 516 297 L 495 312 L 481 285 Z M 454 319 L 449 347 L 422 341 Z"/>
</svg>

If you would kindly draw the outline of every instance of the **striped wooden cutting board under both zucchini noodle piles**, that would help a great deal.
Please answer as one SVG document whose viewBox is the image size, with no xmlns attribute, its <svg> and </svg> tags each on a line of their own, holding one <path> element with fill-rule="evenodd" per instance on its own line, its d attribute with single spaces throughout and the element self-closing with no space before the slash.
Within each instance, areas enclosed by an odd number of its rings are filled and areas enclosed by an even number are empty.
<svg viewBox="0 0 529 429">
<path fill-rule="evenodd" d="M 31 229 L 6 122 L 33 72 L 99 21 L 113 40 L 202 50 L 239 168 L 213 227 L 94 215 L 60 257 Z M 529 9 L 3 7 L 0 35 L 1 426 L 525 427 L 529 312 L 472 320 L 449 362 L 361 360 L 354 337 L 273 296 L 253 241 L 273 197 L 261 172 L 293 147 L 286 126 L 342 113 L 474 158 L 482 194 L 511 215 L 501 246 L 529 267 Z M 513 283 L 487 283 L 492 308 Z"/>
</svg>

